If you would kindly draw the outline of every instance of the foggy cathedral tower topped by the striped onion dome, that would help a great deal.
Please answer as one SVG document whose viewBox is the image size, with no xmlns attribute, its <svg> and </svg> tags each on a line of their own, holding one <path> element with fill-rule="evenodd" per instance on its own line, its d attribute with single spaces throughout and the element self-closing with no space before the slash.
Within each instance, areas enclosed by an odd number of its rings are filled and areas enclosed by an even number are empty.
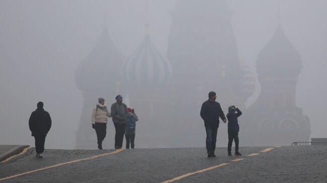
<svg viewBox="0 0 327 183">
<path fill-rule="evenodd" d="M 170 62 L 145 35 L 136 52 L 124 63 L 121 75 L 131 108 L 139 116 L 136 125 L 138 147 L 167 147 L 168 89 L 172 71 Z"/>
</svg>

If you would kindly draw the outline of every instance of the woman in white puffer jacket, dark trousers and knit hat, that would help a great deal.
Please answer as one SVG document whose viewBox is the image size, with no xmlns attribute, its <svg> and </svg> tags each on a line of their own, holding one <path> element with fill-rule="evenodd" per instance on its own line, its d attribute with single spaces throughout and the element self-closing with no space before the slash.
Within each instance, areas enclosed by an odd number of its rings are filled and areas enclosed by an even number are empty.
<svg viewBox="0 0 327 183">
<path fill-rule="evenodd" d="M 107 122 L 108 117 L 111 117 L 110 112 L 107 109 L 105 99 L 98 98 L 99 103 L 93 109 L 92 112 L 92 128 L 97 132 L 98 137 L 98 148 L 102 149 L 102 141 L 105 139 L 107 134 Z"/>
</svg>

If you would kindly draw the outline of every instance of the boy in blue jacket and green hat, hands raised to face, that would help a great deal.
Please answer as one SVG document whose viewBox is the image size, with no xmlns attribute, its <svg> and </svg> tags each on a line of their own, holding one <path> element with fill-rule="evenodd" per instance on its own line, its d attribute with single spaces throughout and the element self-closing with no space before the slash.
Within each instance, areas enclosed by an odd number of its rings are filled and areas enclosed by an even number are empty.
<svg viewBox="0 0 327 183">
<path fill-rule="evenodd" d="M 228 155 L 231 156 L 231 144 L 233 140 L 235 141 L 235 155 L 242 155 L 238 152 L 238 131 L 239 125 L 237 118 L 242 114 L 242 112 L 236 108 L 234 105 L 228 107 Z"/>
</svg>

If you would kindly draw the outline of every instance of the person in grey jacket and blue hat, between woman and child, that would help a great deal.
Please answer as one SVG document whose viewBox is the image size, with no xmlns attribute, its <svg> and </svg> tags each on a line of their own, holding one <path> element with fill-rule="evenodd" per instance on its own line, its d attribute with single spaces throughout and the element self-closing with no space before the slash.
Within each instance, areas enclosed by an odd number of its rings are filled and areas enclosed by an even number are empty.
<svg viewBox="0 0 327 183">
<path fill-rule="evenodd" d="M 121 149 L 123 146 L 128 110 L 126 104 L 123 103 L 123 97 L 121 95 L 117 95 L 115 99 L 116 102 L 111 105 L 112 121 L 116 129 L 115 149 Z"/>
</svg>

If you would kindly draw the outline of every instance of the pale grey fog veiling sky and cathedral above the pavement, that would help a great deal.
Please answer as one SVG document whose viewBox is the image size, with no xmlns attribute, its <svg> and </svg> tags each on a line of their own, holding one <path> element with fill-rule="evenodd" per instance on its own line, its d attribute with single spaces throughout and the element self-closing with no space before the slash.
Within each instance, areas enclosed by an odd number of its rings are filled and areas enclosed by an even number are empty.
<svg viewBox="0 0 327 183">
<path fill-rule="evenodd" d="M 96 148 L 91 110 L 98 97 L 110 107 L 122 94 L 139 117 L 136 147 L 204 147 L 200 108 L 211 90 L 225 115 L 228 105 L 242 110 L 240 146 L 326 137 L 326 12 L 324 0 L 0 1 L 0 144 L 34 146 L 28 119 L 43 101 L 52 118 L 46 148 Z M 169 66 L 135 66 L 149 74 L 142 80 L 126 63 L 142 59 L 145 35 L 153 58 Z M 107 70 L 85 71 L 101 62 Z M 266 91 L 267 78 L 275 84 Z M 109 118 L 106 147 L 113 141 Z M 227 145 L 222 122 L 217 145 Z"/>
</svg>

